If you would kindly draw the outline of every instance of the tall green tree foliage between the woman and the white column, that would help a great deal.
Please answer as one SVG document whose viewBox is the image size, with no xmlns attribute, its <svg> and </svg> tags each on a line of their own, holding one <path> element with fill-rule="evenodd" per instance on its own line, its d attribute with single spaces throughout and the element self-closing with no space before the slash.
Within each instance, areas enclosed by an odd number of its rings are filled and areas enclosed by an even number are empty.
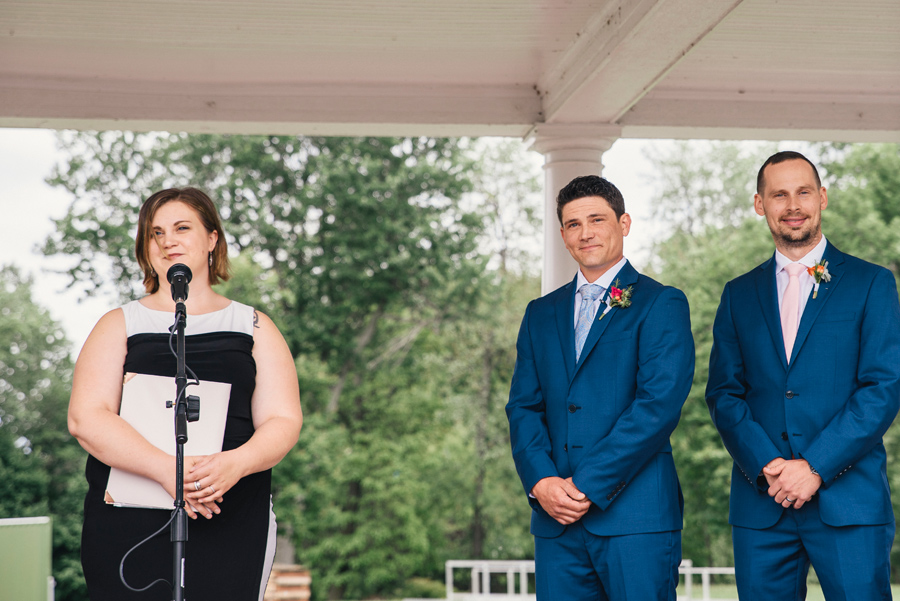
<svg viewBox="0 0 900 601">
<path fill-rule="evenodd" d="M 306 419 L 275 470 L 276 510 L 317 597 L 390 594 L 491 545 L 528 552 L 527 505 L 493 500 L 518 488 L 500 417 L 510 311 L 521 307 L 506 301 L 498 266 L 527 262 L 516 234 L 534 229 L 509 210 L 533 211 L 521 150 L 432 138 L 62 140 L 69 159 L 50 181 L 75 200 L 45 252 L 72 256 L 72 285 L 88 292 L 111 280 L 121 300 L 140 294 L 131 247 L 142 198 L 194 185 L 218 201 L 236 255 L 221 291 L 268 312 L 295 356 Z"/>
</svg>

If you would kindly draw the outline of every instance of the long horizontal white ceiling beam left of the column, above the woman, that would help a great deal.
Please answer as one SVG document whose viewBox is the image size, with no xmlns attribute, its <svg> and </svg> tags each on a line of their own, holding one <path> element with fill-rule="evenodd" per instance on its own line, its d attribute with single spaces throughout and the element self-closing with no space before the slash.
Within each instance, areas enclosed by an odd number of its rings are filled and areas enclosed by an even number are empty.
<svg viewBox="0 0 900 601">
<path fill-rule="evenodd" d="M 232 85 L 5 76 L 0 106 L 0 127 L 524 136 L 540 120 L 533 87 L 516 85 Z"/>
</svg>

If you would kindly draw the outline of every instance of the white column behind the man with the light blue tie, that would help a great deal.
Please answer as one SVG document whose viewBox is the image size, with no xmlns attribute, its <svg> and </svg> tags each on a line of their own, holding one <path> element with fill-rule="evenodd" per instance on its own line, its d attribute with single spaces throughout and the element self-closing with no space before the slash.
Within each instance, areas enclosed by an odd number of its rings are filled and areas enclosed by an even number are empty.
<svg viewBox="0 0 900 601">
<path fill-rule="evenodd" d="M 539 124 L 529 137 L 531 148 L 544 155 L 544 270 L 541 294 L 556 290 L 575 276 L 577 263 L 559 233 L 556 196 L 581 175 L 603 173 L 603 153 L 619 138 L 614 125 Z"/>
</svg>

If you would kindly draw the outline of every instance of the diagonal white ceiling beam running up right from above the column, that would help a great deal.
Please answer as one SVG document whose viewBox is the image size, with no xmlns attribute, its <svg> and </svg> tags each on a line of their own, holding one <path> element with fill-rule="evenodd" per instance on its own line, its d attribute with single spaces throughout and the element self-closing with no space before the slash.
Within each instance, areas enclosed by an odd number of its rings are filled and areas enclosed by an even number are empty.
<svg viewBox="0 0 900 601">
<path fill-rule="evenodd" d="M 547 122 L 615 123 L 742 0 L 619 0 L 538 83 Z"/>
</svg>

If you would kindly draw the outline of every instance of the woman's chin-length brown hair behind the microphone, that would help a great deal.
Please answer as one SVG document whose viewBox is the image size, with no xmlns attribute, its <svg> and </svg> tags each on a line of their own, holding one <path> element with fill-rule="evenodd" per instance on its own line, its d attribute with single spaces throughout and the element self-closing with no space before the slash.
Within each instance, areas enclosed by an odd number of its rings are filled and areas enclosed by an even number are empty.
<svg viewBox="0 0 900 601">
<path fill-rule="evenodd" d="M 144 201 L 141 212 L 138 215 L 138 233 L 134 241 L 134 254 L 138 265 L 144 272 L 144 288 L 147 294 L 153 294 L 159 290 L 159 274 L 153 271 L 150 265 L 149 244 L 153 242 L 153 217 L 159 207 L 168 202 L 183 202 L 191 207 L 200 216 L 200 223 L 207 232 L 216 232 L 218 240 L 212 250 L 212 265 L 209 268 L 209 285 L 219 282 L 227 282 L 231 277 L 231 265 L 228 262 L 228 246 L 225 243 L 225 231 L 222 229 L 222 221 L 216 211 L 216 205 L 212 199 L 197 188 L 169 188 L 160 190 Z M 165 277 L 165 276 L 163 276 Z"/>
</svg>

